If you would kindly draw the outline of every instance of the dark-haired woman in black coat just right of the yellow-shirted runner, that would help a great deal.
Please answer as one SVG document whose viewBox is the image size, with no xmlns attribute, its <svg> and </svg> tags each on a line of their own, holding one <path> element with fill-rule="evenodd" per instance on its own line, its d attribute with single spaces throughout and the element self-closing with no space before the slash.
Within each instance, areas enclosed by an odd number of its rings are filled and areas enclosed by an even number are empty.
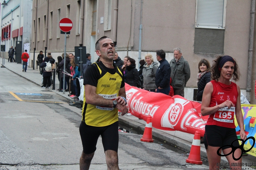
<svg viewBox="0 0 256 170">
<path fill-rule="evenodd" d="M 139 72 L 136 69 L 135 60 L 130 58 L 127 60 L 127 76 L 126 76 L 126 82 L 128 85 L 132 85 L 137 87 L 138 81 L 139 81 Z"/>
</svg>

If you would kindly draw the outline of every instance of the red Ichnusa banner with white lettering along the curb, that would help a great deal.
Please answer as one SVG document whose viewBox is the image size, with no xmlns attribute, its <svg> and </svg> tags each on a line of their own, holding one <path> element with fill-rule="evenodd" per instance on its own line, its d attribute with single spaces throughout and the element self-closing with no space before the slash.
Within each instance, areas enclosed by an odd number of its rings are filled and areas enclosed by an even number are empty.
<svg viewBox="0 0 256 170">
<path fill-rule="evenodd" d="M 204 136 L 205 122 L 197 109 L 201 104 L 175 95 L 173 97 L 125 84 L 129 113 L 147 121 L 152 116 L 152 127 L 162 130 L 179 130 Z M 195 106 L 196 108 L 195 108 Z"/>
</svg>

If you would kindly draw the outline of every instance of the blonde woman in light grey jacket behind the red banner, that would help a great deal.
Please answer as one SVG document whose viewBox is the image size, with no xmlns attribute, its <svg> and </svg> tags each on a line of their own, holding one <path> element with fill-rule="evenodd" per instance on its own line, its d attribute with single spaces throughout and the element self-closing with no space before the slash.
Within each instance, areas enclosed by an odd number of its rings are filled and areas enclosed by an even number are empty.
<svg viewBox="0 0 256 170">
<path fill-rule="evenodd" d="M 156 71 L 158 69 L 157 63 L 154 62 L 153 56 L 151 54 L 145 55 L 145 60 L 147 63 L 143 65 L 143 89 L 156 92 Z"/>
</svg>

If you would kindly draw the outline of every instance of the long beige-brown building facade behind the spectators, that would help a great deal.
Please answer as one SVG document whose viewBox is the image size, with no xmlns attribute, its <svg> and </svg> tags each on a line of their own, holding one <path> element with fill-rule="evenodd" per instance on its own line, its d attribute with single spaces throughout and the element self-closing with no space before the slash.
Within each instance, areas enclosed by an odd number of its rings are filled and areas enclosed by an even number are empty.
<svg viewBox="0 0 256 170">
<path fill-rule="evenodd" d="M 33 0 L 32 6 L 31 55 L 46 49 L 56 60 L 64 52 L 59 21 L 70 18 L 73 28 L 66 37 L 66 51 L 74 53 L 75 46 L 86 46 L 92 62 L 98 58 L 95 42 L 102 36 L 115 42 L 121 59 L 134 58 L 137 67 L 147 53 L 156 61 L 155 51 L 163 49 L 170 62 L 173 48 L 181 48 L 191 70 L 185 88 L 188 100 L 197 89 L 198 62 L 205 58 L 212 64 L 216 56 L 230 55 L 241 72 L 236 83 L 256 103 L 255 53 L 250 48 L 255 0 Z"/>
</svg>

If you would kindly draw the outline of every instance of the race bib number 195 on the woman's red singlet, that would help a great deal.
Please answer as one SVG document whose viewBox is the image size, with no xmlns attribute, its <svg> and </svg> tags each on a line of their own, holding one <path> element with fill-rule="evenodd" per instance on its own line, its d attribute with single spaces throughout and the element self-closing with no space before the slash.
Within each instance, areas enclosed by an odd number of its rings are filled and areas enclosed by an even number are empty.
<svg viewBox="0 0 256 170">
<path fill-rule="evenodd" d="M 235 114 L 235 107 L 230 107 L 230 108 L 223 107 L 214 114 L 213 120 L 216 120 L 219 122 L 233 123 L 234 114 Z"/>
</svg>

